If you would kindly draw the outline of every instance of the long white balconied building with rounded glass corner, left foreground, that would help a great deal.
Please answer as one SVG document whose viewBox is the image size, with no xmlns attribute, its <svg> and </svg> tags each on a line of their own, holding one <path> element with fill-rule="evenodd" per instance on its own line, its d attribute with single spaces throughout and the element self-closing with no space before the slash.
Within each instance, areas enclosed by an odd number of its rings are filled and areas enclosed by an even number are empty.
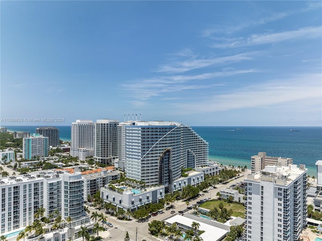
<svg viewBox="0 0 322 241">
<path fill-rule="evenodd" d="M 45 208 L 45 217 L 56 216 L 55 210 L 63 220 L 72 218 L 69 228 L 59 229 L 54 233 L 52 225 L 47 225 L 46 241 L 74 239 L 81 226 L 93 226 L 84 210 L 84 178 L 75 168 L 67 171 L 39 171 L 2 178 L 1 183 L 1 235 L 8 239 L 35 221 L 34 214 L 40 207 Z M 58 239 L 57 239 L 58 238 Z M 15 240 L 15 239 L 10 239 Z"/>
</svg>

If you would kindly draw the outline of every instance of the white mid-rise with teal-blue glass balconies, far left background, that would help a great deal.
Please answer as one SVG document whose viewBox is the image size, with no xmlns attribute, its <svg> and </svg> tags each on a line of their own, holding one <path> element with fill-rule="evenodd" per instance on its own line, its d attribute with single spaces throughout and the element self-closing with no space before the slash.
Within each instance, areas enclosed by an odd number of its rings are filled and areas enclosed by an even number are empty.
<svg viewBox="0 0 322 241">
<path fill-rule="evenodd" d="M 48 156 L 48 137 L 34 134 L 22 141 L 22 157 L 32 159 L 35 156 Z"/>
</svg>

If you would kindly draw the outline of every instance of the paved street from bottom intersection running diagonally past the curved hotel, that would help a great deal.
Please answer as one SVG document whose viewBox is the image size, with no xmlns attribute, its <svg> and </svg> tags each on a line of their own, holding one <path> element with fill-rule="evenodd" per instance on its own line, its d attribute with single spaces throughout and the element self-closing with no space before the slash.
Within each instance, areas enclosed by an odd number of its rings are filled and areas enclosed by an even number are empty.
<svg viewBox="0 0 322 241">
<path fill-rule="evenodd" d="M 196 200 L 190 201 L 189 205 L 197 203 L 197 201 L 209 197 L 210 199 L 216 199 L 216 193 L 219 192 L 220 188 L 227 188 L 232 184 L 235 184 L 237 182 L 241 182 L 245 179 L 245 176 L 241 176 L 238 179 L 235 179 L 233 181 L 230 181 L 227 184 L 217 184 L 216 189 L 213 189 L 209 191 L 208 193 L 205 193 L 204 196 L 198 197 Z M 179 200 L 175 202 L 175 208 L 176 214 L 178 214 L 178 211 L 185 210 L 187 208 L 187 205 L 185 201 Z M 103 212 L 105 210 L 99 211 L 97 209 L 94 209 L 93 207 L 89 207 L 91 213 L 93 211 L 97 212 Z M 148 222 L 137 222 L 135 219 L 131 221 L 123 221 L 118 220 L 116 217 L 107 215 L 107 219 L 109 222 L 113 224 L 113 228 L 109 228 L 108 231 L 100 232 L 100 236 L 104 237 L 104 241 L 123 241 L 125 238 L 126 231 L 128 231 L 130 239 L 132 241 L 141 241 L 145 239 L 146 241 L 160 241 L 164 239 L 156 238 L 148 233 L 148 223 L 152 220 L 165 220 L 173 215 L 171 214 L 172 209 L 165 211 L 162 214 L 158 214 L 157 216 L 152 216 L 149 218 Z M 91 215 L 91 214 L 90 214 Z"/>
</svg>

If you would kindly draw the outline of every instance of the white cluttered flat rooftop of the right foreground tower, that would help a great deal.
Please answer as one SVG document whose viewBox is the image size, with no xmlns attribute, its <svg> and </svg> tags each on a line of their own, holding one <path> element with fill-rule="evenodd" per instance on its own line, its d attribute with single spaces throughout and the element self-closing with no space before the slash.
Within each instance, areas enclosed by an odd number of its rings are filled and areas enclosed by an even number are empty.
<svg viewBox="0 0 322 241">
<path fill-rule="evenodd" d="M 289 165 L 288 167 L 266 166 L 265 169 L 250 174 L 246 181 L 275 181 L 277 185 L 287 186 L 296 178 L 307 172 L 305 165 Z"/>
</svg>

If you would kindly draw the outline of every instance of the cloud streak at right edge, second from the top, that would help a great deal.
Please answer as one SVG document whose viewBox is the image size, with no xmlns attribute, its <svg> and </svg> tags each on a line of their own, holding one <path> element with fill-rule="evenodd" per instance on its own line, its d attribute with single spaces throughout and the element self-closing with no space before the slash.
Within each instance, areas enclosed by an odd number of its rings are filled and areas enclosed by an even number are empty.
<svg viewBox="0 0 322 241">
<path fill-rule="evenodd" d="M 321 37 L 322 26 L 318 27 L 307 27 L 298 30 L 285 31 L 280 33 L 267 33 L 267 34 L 253 34 L 247 39 L 237 40 L 231 39 L 226 40 L 222 43 L 214 43 L 214 48 L 234 48 L 241 46 L 253 46 L 259 44 L 276 43 L 286 40 L 294 39 L 312 39 Z"/>
</svg>

